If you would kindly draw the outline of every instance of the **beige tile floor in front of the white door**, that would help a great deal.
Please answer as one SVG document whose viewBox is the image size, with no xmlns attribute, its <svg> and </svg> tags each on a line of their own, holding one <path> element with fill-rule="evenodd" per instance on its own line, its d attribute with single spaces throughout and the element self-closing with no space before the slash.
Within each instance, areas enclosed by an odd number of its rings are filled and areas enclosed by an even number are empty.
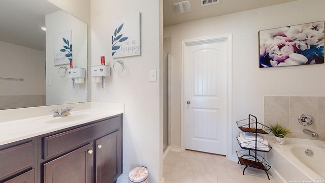
<svg viewBox="0 0 325 183">
<path fill-rule="evenodd" d="M 164 162 L 165 183 L 276 183 L 263 170 L 248 167 L 243 175 L 244 165 L 229 161 L 225 156 L 186 150 L 184 153 L 171 151 Z"/>
</svg>

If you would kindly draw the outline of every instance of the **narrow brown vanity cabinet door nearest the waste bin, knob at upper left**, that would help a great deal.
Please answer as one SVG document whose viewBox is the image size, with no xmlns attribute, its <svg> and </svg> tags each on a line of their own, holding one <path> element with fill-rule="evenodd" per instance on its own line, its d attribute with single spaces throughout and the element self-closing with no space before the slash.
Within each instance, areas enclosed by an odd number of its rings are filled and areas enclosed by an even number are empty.
<svg viewBox="0 0 325 183">
<path fill-rule="evenodd" d="M 96 140 L 96 183 L 111 183 L 122 173 L 121 132 Z"/>
</svg>

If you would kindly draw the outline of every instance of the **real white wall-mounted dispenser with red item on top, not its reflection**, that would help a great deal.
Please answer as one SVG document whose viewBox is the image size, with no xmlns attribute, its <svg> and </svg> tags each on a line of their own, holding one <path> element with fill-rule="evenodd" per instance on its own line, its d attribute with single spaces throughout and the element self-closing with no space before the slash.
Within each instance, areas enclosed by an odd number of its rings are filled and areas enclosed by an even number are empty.
<svg viewBox="0 0 325 183">
<path fill-rule="evenodd" d="M 102 83 L 102 87 L 105 87 L 106 76 L 110 76 L 109 66 L 91 66 L 91 80 L 95 83 Z"/>
</svg>

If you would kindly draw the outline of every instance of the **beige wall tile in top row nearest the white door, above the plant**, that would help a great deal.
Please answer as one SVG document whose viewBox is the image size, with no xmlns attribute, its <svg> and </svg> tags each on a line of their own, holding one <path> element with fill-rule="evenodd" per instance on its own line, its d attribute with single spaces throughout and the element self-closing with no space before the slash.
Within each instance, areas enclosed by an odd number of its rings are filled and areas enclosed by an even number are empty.
<svg viewBox="0 0 325 183">
<path fill-rule="evenodd" d="M 264 115 L 289 116 L 289 98 L 279 96 L 264 97 Z"/>
</svg>

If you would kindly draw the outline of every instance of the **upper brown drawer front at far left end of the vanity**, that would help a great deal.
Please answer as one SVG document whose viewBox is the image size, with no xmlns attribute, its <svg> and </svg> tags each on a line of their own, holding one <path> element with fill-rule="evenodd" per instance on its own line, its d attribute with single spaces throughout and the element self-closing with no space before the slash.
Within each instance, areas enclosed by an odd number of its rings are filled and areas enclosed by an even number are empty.
<svg viewBox="0 0 325 183">
<path fill-rule="evenodd" d="M 34 141 L 0 150 L 0 178 L 34 164 Z"/>
</svg>

